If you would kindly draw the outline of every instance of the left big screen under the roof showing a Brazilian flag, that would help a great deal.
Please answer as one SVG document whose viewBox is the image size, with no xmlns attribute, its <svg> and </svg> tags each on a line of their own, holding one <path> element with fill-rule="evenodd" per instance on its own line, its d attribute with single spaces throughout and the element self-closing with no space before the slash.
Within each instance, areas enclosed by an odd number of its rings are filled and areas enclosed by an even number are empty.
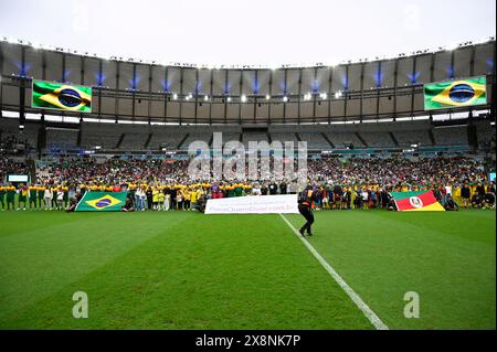
<svg viewBox="0 0 497 352">
<path fill-rule="evenodd" d="M 33 81 L 32 107 L 92 113 L 92 87 Z"/>
</svg>

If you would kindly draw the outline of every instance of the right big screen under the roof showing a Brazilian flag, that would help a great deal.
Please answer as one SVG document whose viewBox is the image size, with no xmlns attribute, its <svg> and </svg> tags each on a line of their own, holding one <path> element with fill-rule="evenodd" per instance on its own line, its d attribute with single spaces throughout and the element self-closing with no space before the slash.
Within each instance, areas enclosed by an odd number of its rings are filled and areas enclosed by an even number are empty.
<svg viewBox="0 0 497 352">
<path fill-rule="evenodd" d="M 424 85 L 424 109 L 487 104 L 486 77 L 429 83 Z"/>
</svg>

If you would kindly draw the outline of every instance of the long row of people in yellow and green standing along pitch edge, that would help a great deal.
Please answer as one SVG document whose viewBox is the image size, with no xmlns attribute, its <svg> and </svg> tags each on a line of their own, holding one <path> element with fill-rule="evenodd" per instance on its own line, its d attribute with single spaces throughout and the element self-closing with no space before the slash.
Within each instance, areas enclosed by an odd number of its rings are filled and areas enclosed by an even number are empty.
<svg viewBox="0 0 497 352">
<path fill-rule="evenodd" d="M 456 205 L 464 207 L 495 206 L 495 182 L 488 184 L 456 184 L 456 185 L 341 185 L 309 182 L 316 194 L 314 206 L 316 209 L 387 209 L 390 202 L 390 192 L 409 192 L 432 190 L 437 200 L 445 206 L 453 200 Z M 77 202 L 86 191 L 128 192 L 128 207 L 137 211 L 144 210 L 193 210 L 199 201 L 207 199 L 232 198 L 243 195 L 274 195 L 297 193 L 294 183 L 283 182 L 197 182 L 147 184 L 125 183 L 120 185 L 74 185 L 74 184 L 45 184 L 25 185 L 0 184 L 0 207 L 13 210 L 27 209 L 67 209 L 71 203 Z M 17 199 L 17 201 L 15 201 Z"/>
</svg>

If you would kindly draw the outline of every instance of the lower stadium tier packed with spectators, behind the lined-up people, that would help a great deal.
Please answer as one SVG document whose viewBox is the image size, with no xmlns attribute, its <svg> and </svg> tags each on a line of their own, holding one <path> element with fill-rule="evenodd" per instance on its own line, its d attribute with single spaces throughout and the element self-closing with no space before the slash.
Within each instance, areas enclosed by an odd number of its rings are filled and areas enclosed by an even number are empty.
<svg viewBox="0 0 497 352">
<path fill-rule="evenodd" d="M 190 174 L 189 169 L 194 158 L 96 158 L 71 157 L 32 160 L 30 158 L 0 157 L 0 181 L 7 182 L 8 175 L 24 174 L 30 177 L 31 184 L 38 185 L 104 185 L 121 184 L 190 184 L 198 181 L 257 181 L 267 183 L 275 179 L 276 158 L 268 159 L 268 170 L 261 169 L 258 163 L 254 178 L 248 171 L 251 161 L 241 166 L 241 178 L 215 175 L 214 163 L 204 178 Z M 260 159 L 257 162 L 262 162 Z M 285 160 L 279 160 L 285 163 Z M 244 168 L 244 169 L 243 169 Z M 455 185 L 463 183 L 488 183 L 495 172 L 495 159 L 474 157 L 433 157 L 433 158 L 388 158 L 388 157 L 322 157 L 307 159 L 305 164 L 299 160 L 286 160 L 283 178 L 294 181 L 299 173 L 307 175 L 309 182 L 331 183 L 340 185 Z M 240 173 L 237 173 L 240 174 Z M 262 185 L 262 184 L 261 184 Z"/>
</svg>

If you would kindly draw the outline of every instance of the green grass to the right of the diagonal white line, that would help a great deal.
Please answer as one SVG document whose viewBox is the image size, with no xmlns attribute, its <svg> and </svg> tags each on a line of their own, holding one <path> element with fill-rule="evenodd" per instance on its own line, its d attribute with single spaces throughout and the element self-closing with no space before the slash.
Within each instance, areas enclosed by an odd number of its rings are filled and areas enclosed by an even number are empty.
<svg viewBox="0 0 497 352">
<path fill-rule="evenodd" d="M 310 242 L 391 329 L 495 329 L 495 221 L 485 210 L 317 212 Z M 419 319 L 404 317 L 409 291 Z"/>
</svg>

